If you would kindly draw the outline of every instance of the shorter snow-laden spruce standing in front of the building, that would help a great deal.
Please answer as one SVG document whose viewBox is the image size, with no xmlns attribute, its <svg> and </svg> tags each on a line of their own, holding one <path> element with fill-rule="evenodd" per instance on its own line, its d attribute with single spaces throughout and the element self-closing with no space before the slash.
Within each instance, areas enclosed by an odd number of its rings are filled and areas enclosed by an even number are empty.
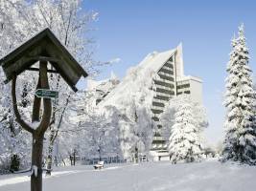
<svg viewBox="0 0 256 191">
<path fill-rule="evenodd" d="M 178 107 L 175 113 L 175 124 L 171 130 L 168 147 L 170 160 L 176 163 L 201 159 L 202 147 L 199 139 L 192 105 L 189 102 L 184 103 Z"/>
</svg>

